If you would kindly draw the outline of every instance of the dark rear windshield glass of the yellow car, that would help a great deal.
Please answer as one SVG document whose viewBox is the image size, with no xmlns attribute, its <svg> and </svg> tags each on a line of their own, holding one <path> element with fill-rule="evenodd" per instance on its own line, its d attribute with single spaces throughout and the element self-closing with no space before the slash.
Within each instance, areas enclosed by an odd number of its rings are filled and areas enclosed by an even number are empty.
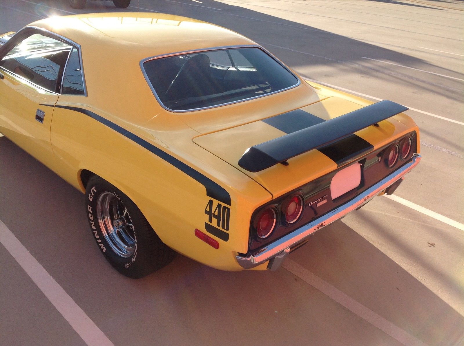
<svg viewBox="0 0 464 346">
<path fill-rule="evenodd" d="M 298 84 L 280 63 L 251 47 L 163 57 L 143 67 L 161 103 L 177 111 L 242 101 Z"/>
</svg>

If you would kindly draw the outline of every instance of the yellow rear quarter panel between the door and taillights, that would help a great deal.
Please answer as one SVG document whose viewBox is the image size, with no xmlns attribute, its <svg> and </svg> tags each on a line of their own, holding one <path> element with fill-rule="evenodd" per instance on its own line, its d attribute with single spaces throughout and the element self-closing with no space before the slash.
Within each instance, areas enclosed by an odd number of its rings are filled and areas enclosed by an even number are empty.
<svg viewBox="0 0 464 346">
<path fill-rule="evenodd" d="M 76 107 L 79 106 L 76 101 L 81 100 L 80 96 L 60 96 L 57 105 Z M 100 109 L 85 108 L 108 117 Z M 205 222 L 208 221 L 206 205 L 210 200 L 213 200 L 214 206 L 224 204 L 222 201 L 207 196 L 201 183 L 172 164 L 83 113 L 55 108 L 51 133 L 52 147 L 58 160 L 55 171 L 84 192 L 80 172 L 90 170 L 128 195 L 161 240 L 175 251 L 214 268 L 242 270 L 235 255 L 247 252 L 251 214 L 263 201 L 270 200 L 270 194 L 191 140 L 183 144 L 182 151 L 173 152 L 160 140 L 148 138 L 147 132 L 142 129 L 137 131 L 132 127 L 130 131 L 170 152 L 229 192 L 231 217 L 228 241 L 205 231 Z M 191 138 L 192 131 L 182 125 L 173 129 L 172 135 Z M 196 238 L 195 228 L 218 240 L 219 249 Z"/>
</svg>

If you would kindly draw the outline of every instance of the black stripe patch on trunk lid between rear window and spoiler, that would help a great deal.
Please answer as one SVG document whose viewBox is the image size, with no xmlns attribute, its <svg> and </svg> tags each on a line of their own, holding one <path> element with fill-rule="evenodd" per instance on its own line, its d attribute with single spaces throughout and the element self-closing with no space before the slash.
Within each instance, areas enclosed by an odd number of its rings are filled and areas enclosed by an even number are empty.
<svg viewBox="0 0 464 346">
<path fill-rule="evenodd" d="M 320 124 L 325 120 L 316 117 L 314 114 L 305 112 L 302 109 L 295 109 L 294 111 L 279 114 L 261 121 L 285 133 L 292 133 Z"/>
</svg>

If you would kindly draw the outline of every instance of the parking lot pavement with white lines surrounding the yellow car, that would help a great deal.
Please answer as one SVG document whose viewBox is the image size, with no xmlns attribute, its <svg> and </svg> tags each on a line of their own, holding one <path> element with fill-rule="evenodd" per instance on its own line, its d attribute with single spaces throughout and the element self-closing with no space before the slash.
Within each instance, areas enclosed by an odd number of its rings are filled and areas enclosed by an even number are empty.
<svg viewBox="0 0 464 346">
<path fill-rule="evenodd" d="M 177 256 L 122 277 L 84 196 L 0 135 L 0 345 L 463 345 L 464 3 L 132 0 L 238 31 L 304 77 L 388 99 L 421 130 L 392 198 L 315 233 L 276 272 Z M 137 5 L 139 8 L 137 8 Z M 109 1 L 0 1 L 0 32 Z"/>
</svg>

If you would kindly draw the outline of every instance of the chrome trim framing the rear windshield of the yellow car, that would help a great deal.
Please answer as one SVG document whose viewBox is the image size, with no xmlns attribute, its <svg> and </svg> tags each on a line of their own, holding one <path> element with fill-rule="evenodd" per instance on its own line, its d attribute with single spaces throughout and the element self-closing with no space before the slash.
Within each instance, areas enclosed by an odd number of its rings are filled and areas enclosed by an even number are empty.
<svg viewBox="0 0 464 346">
<path fill-rule="evenodd" d="M 249 97 L 249 98 L 246 98 L 246 99 L 243 99 L 243 100 L 231 101 L 231 102 L 221 103 L 221 104 L 219 104 L 219 105 L 213 105 L 213 106 L 208 106 L 208 107 L 192 108 L 192 109 L 186 109 L 186 110 L 174 110 L 174 109 L 171 109 L 171 108 L 166 107 L 166 106 L 161 102 L 161 99 L 159 98 L 158 94 L 156 94 L 155 88 L 153 87 L 153 85 L 151 84 L 150 80 L 148 79 L 147 72 L 145 71 L 145 68 L 143 67 L 143 64 L 144 64 L 144 63 L 147 63 L 148 61 L 151 61 L 151 60 L 160 59 L 160 58 L 163 58 L 163 57 L 174 57 L 174 56 L 176 56 L 176 55 L 189 54 L 189 53 L 199 53 L 199 52 L 211 51 L 211 50 L 225 50 L 225 49 L 250 48 L 250 47 L 254 47 L 254 48 L 258 48 L 258 49 L 260 49 L 260 50 L 263 50 L 264 53 L 266 53 L 267 55 L 269 55 L 269 56 L 270 56 L 272 59 L 274 59 L 280 66 L 282 66 L 284 69 L 286 69 L 288 72 L 290 72 L 291 75 L 293 75 L 293 76 L 296 78 L 296 81 L 297 81 L 296 84 L 295 84 L 295 85 L 292 85 L 291 87 L 288 87 L 288 88 L 284 88 L 284 89 L 281 89 L 281 90 L 273 91 L 272 93 L 269 93 L 269 94 L 264 94 L 264 95 L 259 95 L 259 96 L 253 96 L 253 97 Z M 243 44 L 243 45 L 232 45 L 232 46 L 222 46 L 222 47 L 210 47 L 210 48 L 202 48 L 202 49 L 195 49 L 195 50 L 184 50 L 184 51 L 180 51 L 180 52 L 176 52 L 176 53 L 168 53 L 168 54 L 155 55 L 155 56 L 153 56 L 153 57 L 148 57 L 148 58 L 142 59 L 141 62 L 140 62 L 140 69 L 142 69 L 142 74 L 143 74 L 143 76 L 145 77 L 145 81 L 148 83 L 148 86 L 150 87 L 152 93 L 155 95 L 156 101 L 158 101 L 158 103 L 161 105 L 161 107 L 163 107 L 164 109 L 166 109 L 166 110 L 169 111 L 169 112 L 174 112 L 174 113 L 195 112 L 195 111 L 201 111 L 201 110 L 204 110 L 204 109 L 211 109 L 211 108 L 216 108 L 216 107 L 221 107 L 221 106 L 226 106 L 226 105 L 232 105 L 232 104 L 234 104 L 234 103 L 239 103 L 239 102 L 245 102 L 245 101 L 255 100 L 255 99 L 258 99 L 258 98 L 261 98 L 261 97 L 264 97 L 264 96 L 268 96 L 268 95 L 272 95 L 272 94 L 277 94 L 277 93 L 281 93 L 281 92 L 286 91 L 286 90 L 290 90 L 290 89 L 296 88 L 297 86 L 299 86 L 299 85 L 301 84 L 300 78 L 299 78 L 295 73 L 293 73 L 293 72 L 292 72 L 287 66 L 285 66 L 284 63 L 282 63 L 279 59 L 277 59 L 277 57 L 275 57 L 274 55 L 272 55 L 271 52 L 269 52 L 269 51 L 266 50 L 264 47 L 262 47 L 262 46 L 260 46 L 260 45 L 258 45 L 258 44 Z"/>
</svg>

